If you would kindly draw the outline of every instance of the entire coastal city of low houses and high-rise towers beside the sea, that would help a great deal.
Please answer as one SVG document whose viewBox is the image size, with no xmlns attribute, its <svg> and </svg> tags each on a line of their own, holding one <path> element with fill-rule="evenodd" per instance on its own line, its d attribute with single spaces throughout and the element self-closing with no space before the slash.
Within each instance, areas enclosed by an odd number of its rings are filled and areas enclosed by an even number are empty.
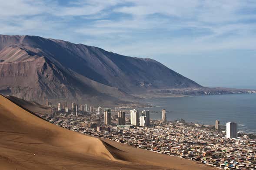
<svg viewBox="0 0 256 170">
<path fill-rule="evenodd" d="M 181 157 L 209 166 L 229 170 L 256 169 L 256 139 L 238 134 L 237 122 L 220 125 L 200 125 L 179 121 L 167 121 L 166 110 L 161 120 L 150 119 L 150 111 L 141 114 L 128 106 L 118 108 L 94 108 L 93 106 L 52 103 L 51 116 L 40 115 L 49 122 L 71 131 L 109 139 L 133 147 L 160 154 Z M 128 116 L 130 114 L 130 117 Z"/>
</svg>

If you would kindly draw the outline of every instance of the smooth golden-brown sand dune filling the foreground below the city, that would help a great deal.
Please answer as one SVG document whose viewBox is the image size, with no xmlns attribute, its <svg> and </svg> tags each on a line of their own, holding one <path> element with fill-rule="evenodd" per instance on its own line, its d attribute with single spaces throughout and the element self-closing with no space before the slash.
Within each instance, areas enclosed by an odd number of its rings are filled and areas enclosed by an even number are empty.
<svg viewBox="0 0 256 170">
<path fill-rule="evenodd" d="M 58 127 L 0 95 L 1 170 L 209 170 L 211 167 Z"/>
</svg>

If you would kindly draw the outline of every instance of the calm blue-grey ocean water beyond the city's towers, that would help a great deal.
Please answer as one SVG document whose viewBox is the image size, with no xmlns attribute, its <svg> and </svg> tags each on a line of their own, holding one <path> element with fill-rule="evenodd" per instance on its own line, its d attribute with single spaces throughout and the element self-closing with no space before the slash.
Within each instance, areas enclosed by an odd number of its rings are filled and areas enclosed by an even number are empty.
<svg viewBox="0 0 256 170">
<path fill-rule="evenodd" d="M 150 118 L 161 119 L 161 111 L 166 109 L 168 121 L 183 118 L 186 122 L 221 125 L 229 121 L 238 123 L 238 131 L 256 134 L 256 94 L 205 95 L 179 98 L 153 98 L 142 101 L 152 108 Z M 153 113 L 153 111 L 158 111 Z"/>
</svg>

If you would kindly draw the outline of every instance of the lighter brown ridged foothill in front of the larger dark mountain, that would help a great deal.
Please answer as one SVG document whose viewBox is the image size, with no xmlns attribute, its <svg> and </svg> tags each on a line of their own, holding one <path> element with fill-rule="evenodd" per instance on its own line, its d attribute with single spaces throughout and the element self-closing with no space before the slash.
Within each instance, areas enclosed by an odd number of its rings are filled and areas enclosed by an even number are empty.
<svg viewBox="0 0 256 170">
<path fill-rule="evenodd" d="M 64 99 L 95 104 L 101 100 L 121 102 L 119 98 L 124 96 L 127 99 L 134 98 L 118 88 L 100 84 L 72 70 L 63 70 L 45 57 L 3 62 L 0 70 L 3 80 L 0 90 L 10 89 L 8 95 L 13 94 L 29 101 L 43 103 L 46 99 Z"/>
</svg>

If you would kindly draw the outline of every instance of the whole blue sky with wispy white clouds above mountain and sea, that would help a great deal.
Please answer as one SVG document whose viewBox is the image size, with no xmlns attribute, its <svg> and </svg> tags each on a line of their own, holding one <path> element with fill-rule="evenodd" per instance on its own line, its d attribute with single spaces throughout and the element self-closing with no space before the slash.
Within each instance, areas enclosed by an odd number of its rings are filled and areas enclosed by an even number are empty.
<svg viewBox="0 0 256 170">
<path fill-rule="evenodd" d="M 148 57 L 204 86 L 256 88 L 256 0 L 0 0 L 0 34 Z"/>
</svg>

